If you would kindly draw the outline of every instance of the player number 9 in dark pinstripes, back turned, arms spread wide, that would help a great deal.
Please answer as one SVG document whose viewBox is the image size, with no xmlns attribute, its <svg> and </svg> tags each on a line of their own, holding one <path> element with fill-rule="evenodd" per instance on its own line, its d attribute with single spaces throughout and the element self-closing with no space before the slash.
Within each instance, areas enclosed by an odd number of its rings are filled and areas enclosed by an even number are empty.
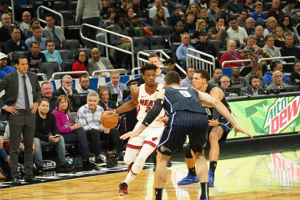
<svg viewBox="0 0 300 200">
<path fill-rule="evenodd" d="M 232 124 L 235 134 L 243 132 L 249 135 L 249 133 L 239 127 L 220 100 L 193 88 L 179 87 L 180 78 L 177 72 L 169 71 L 165 76 L 164 85 L 166 87 L 156 94 L 153 107 L 148 111 L 139 127 L 123 134 L 120 138 L 134 139 L 152 123 L 164 108 L 168 115 L 168 121 L 157 145 L 158 153 L 154 176 L 155 199 L 162 198 L 162 189 L 167 179 L 167 161 L 173 152 L 182 148 L 186 135 L 188 135 L 201 184 L 200 199 L 208 200 L 208 170 L 204 157 L 208 117 L 203 104 L 216 108 Z M 201 105 L 201 103 L 203 104 Z"/>
</svg>

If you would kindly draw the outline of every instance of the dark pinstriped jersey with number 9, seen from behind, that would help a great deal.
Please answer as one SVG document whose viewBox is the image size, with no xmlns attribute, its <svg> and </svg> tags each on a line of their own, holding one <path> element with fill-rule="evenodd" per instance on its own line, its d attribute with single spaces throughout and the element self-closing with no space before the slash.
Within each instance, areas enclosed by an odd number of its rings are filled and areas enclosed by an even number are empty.
<svg viewBox="0 0 300 200">
<path fill-rule="evenodd" d="M 164 110 L 167 115 L 175 111 L 190 111 L 206 114 L 199 102 L 199 93 L 189 87 L 165 87 Z"/>
</svg>

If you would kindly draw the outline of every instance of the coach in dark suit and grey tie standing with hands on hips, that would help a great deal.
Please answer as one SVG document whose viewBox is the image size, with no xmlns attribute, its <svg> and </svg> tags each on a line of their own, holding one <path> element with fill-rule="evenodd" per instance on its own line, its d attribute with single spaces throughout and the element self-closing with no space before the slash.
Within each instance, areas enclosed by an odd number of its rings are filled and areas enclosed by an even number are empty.
<svg viewBox="0 0 300 200">
<path fill-rule="evenodd" d="M 10 129 L 9 155 L 11 183 L 20 184 L 17 171 L 18 149 L 23 133 L 25 181 L 39 182 L 32 175 L 33 167 L 33 137 L 35 130 L 35 111 L 40 100 L 40 86 L 37 75 L 27 71 L 28 61 L 25 56 L 14 60 L 16 71 L 7 73 L 0 81 L 0 91 L 5 94 L 0 98 L 0 118 L 8 120 Z"/>
</svg>

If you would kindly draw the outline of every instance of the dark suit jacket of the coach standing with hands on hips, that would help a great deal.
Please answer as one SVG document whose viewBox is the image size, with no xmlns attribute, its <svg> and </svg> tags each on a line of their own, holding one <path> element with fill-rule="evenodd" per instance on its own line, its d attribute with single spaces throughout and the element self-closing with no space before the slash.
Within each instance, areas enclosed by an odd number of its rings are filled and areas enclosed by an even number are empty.
<svg viewBox="0 0 300 200">
<path fill-rule="evenodd" d="M 27 71 L 33 94 L 33 102 L 38 102 L 40 100 L 40 85 L 38 83 L 36 73 Z M 4 75 L 3 79 L 0 81 L 0 92 L 5 90 L 5 94 L 0 97 L 0 107 L 6 105 L 11 105 L 16 102 L 18 95 L 18 76 L 17 71 L 7 73 Z M 1 109 L 0 119 L 8 120 L 9 112 L 6 112 L 4 109 Z"/>
</svg>

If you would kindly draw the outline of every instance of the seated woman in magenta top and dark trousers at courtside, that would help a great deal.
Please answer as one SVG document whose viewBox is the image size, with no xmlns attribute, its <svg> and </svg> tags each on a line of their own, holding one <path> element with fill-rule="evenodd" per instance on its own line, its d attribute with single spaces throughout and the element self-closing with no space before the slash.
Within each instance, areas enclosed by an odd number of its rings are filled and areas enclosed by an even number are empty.
<svg viewBox="0 0 300 200">
<path fill-rule="evenodd" d="M 57 128 L 65 143 L 78 142 L 78 147 L 82 159 L 93 157 L 89 152 L 86 134 L 80 123 L 72 124 L 71 117 L 68 114 L 70 110 L 70 99 L 66 95 L 59 95 L 56 101 L 55 115 Z"/>
</svg>

